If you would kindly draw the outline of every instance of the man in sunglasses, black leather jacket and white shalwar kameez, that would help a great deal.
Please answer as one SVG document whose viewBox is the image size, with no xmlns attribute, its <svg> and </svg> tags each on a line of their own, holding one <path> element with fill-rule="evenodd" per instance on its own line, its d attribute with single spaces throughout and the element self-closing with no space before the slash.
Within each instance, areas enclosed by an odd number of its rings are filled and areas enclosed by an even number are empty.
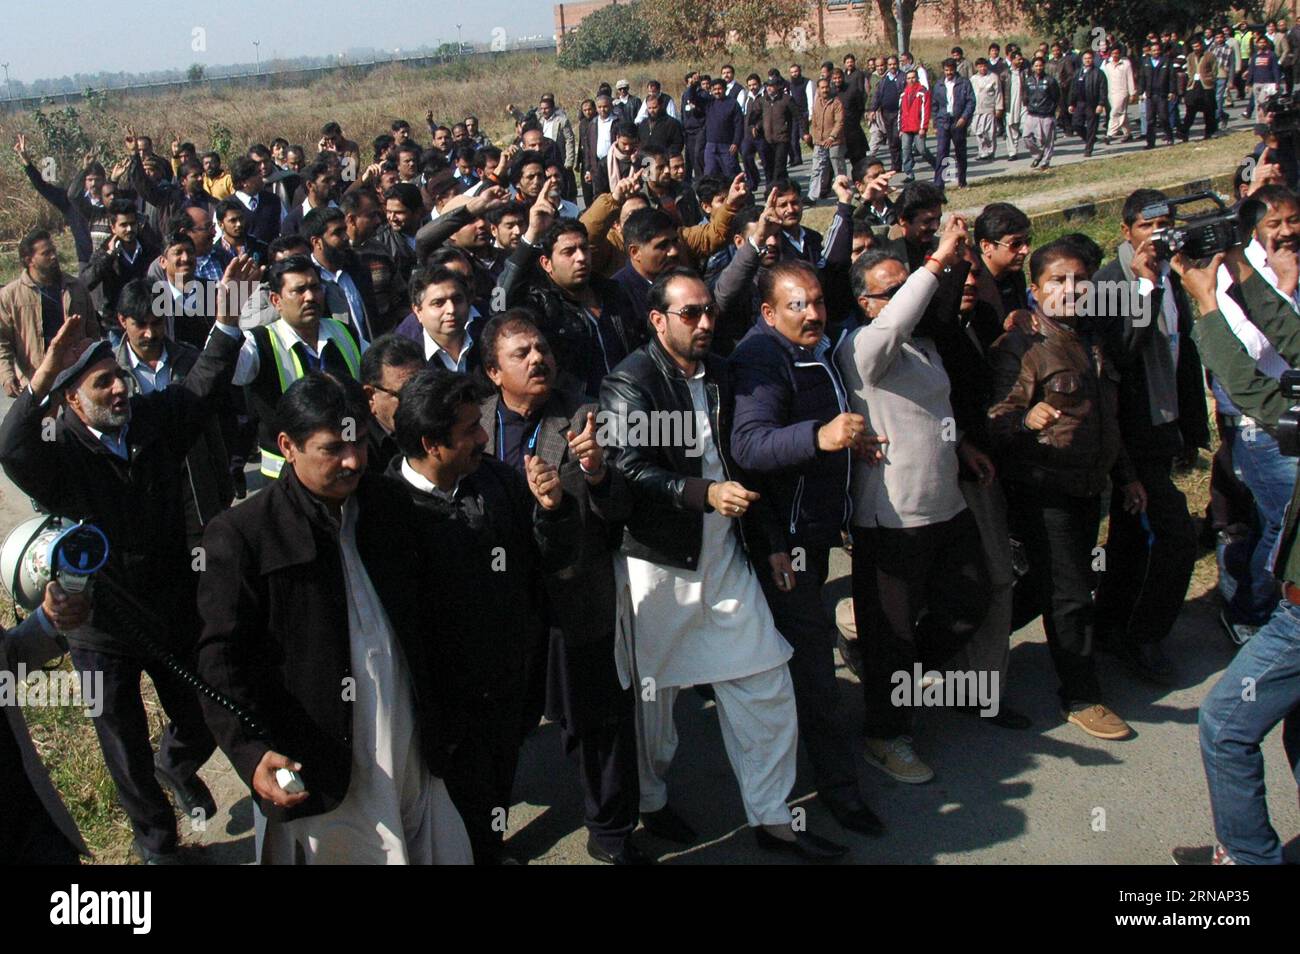
<svg viewBox="0 0 1300 954">
<path fill-rule="evenodd" d="M 842 846 L 796 832 L 785 803 L 794 786 L 798 746 L 794 685 L 786 665 L 792 650 L 772 621 L 742 548 L 741 517 L 758 494 L 728 480 L 734 473 L 729 435 L 715 433 L 718 421 L 729 426 L 731 389 L 725 364 L 708 354 L 712 295 L 698 276 L 673 269 L 655 282 L 647 303 L 655 338 L 615 368 L 601 389 L 602 417 L 618 416 L 629 425 L 615 428 L 619 435 L 611 448 L 634 500 L 624 551 L 615 560 L 624 593 L 615 654 L 623 684 L 634 682 L 641 701 L 642 823 L 651 834 L 671 841 L 696 838 L 668 807 L 666 776 L 677 749 L 672 714 L 677 693 L 708 684 L 759 846 L 809 859 L 840 857 Z M 666 387 L 679 402 L 682 391 L 689 394 L 689 406 L 658 400 L 655 395 Z M 636 416 L 662 419 L 662 412 L 681 422 L 679 433 L 685 439 L 675 447 L 646 446 L 655 438 L 634 435 Z M 671 506 L 666 494 L 680 495 L 680 506 Z M 698 550 L 690 546 L 694 526 L 682 522 L 694 520 L 701 521 Z M 660 552 L 662 559 L 655 559 Z M 774 574 L 789 574 L 788 554 L 775 552 L 768 563 Z"/>
</svg>

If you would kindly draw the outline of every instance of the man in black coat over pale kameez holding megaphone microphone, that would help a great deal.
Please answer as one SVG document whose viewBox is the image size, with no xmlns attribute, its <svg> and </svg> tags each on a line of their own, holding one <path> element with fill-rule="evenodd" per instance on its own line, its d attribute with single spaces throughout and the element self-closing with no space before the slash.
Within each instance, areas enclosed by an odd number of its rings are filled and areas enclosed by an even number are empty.
<svg viewBox="0 0 1300 954">
<path fill-rule="evenodd" d="M 421 602 L 433 545 L 410 496 L 365 473 L 344 383 L 309 373 L 277 417 L 281 480 L 208 524 L 199 581 L 199 672 L 244 711 L 204 698 L 204 716 L 255 795 L 257 859 L 469 864 L 434 773 L 458 698 Z"/>
</svg>

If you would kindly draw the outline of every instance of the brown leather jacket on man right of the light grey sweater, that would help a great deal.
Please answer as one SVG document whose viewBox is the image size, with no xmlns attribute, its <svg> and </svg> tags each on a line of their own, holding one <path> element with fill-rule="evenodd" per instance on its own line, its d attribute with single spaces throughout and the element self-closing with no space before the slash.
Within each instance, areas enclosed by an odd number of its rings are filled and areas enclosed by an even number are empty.
<svg viewBox="0 0 1300 954">
<path fill-rule="evenodd" d="M 989 437 L 1010 481 L 1095 496 L 1108 474 L 1123 486 L 1135 480 L 1119 438 L 1119 372 L 1101 341 L 1086 344 L 1072 330 L 1037 316 L 1040 331 L 1008 331 L 993 343 L 993 404 Z M 1039 402 L 1061 411 L 1043 430 L 1024 426 Z"/>
</svg>

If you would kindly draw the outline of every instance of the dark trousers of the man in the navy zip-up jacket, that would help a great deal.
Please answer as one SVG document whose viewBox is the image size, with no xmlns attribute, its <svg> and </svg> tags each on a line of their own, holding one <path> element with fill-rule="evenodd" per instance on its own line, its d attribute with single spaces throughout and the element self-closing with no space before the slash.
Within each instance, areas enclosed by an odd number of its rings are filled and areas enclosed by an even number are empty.
<svg viewBox="0 0 1300 954">
<path fill-rule="evenodd" d="M 781 593 L 770 573 L 759 573 L 772 619 L 794 650 L 790 678 L 800 719 L 800 745 L 812 766 L 823 798 L 858 801 L 853 745 L 838 719 L 838 682 L 835 677 L 835 621 L 822 602 L 831 567 L 828 547 L 807 547 L 803 569 L 794 571 L 794 589 Z"/>
</svg>

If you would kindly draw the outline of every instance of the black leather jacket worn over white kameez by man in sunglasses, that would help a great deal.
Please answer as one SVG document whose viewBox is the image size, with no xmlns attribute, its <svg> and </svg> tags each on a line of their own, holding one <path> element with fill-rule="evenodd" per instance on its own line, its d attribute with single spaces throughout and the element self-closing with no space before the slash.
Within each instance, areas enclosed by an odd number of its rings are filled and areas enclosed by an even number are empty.
<svg viewBox="0 0 1300 954">
<path fill-rule="evenodd" d="M 728 480 L 753 489 L 754 482 L 731 456 L 734 395 L 727 359 L 708 355 L 703 369 L 710 428 L 723 469 Z M 610 463 L 632 486 L 632 513 L 623 533 L 623 552 L 629 556 L 682 569 L 699 567 L 703 516 L 712 511 L 708 486 L 714 481 L 702 476 L 698 435 L 693 430 L 670 432 L 660 426 L 658 439 L 629 439 L 636 433 L 638 417 L 641 421 L 685 421 L 693 420 L 693 413 L 690 385 L 658 338 L 628 355 L 601 385 L 598 426 L 610 438 Z M 653 428 L 647 430 L 654 433 Z M 667 439 L 672 433 L 679 439 Z M 681 439 L 682 434 L 688 439 Z M 755 502 L 736 525 L 750 560 L 764 560 L 776 547 L 784 550 L 779 521 L 766 499 Z"/>
</svg>

